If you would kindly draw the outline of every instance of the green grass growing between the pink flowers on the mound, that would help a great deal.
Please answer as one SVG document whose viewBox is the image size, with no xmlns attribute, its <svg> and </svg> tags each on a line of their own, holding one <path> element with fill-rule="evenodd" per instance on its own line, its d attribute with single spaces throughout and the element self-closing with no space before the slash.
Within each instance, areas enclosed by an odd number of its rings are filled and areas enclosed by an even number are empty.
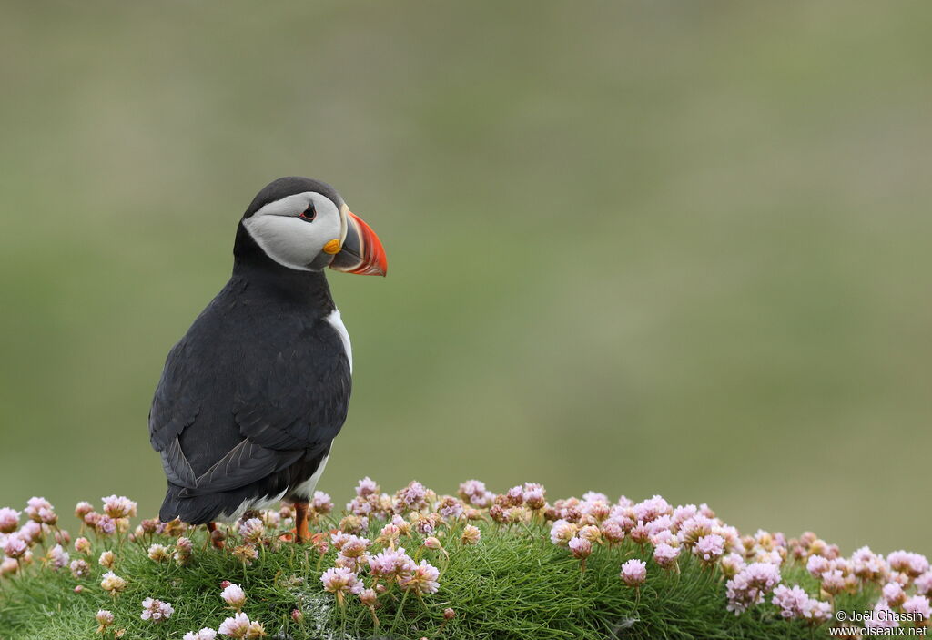
<svg viewBox="0 0 932 640">
<path fill-rule="evenodd" d="M 382 525 L 373 519 L 369 537 L 377 538 Z M 317 529 L 336 523 L 322 518 Z M 269 637 L 370 638 L 382 633 L 391 638 L 421 637 L 446 640 L 604 640 L 605 638 L 813 638 L 824 637 L 824 628 L 813 629 L 802 621 L 782 620 L 775 606 L 752 607 L 735 617 L 726 611 L 725 580 L 720 569 L 704 569 L 684 553 L 680 572 L 666 572 L 650 559 L 650 545 L 641 550 L 625 540 L 614 548 L 600 547 L 581 564 L 565 548 L 548 538 L 549 526 L 537 520 L 527 524 L 478 523 L 482 538 L 475 546 L 462 544 L 462 524 L 441 527 L 440 539 L 448 552 L 421 547 L 423 537 L 402 538 L 416 560 L 426 559 L 442 571 L 439 592 L 423 598 L 403 597 L 397 588 L 379 597 L 380 628 L 374 628 L 370 611 L 352 595 L 346 606 L 336 606 L 333 594 L 322 590 L 322 569 L 333 565 L 335 551 L 321 556 L 313 545 L 295 545 L 268 531 L 259 558 L 241 564 L 229 552 L 207 544 L 202 527 L 185 536 L 195 543 L 192 562 L 157 563 L 147 549 L 153 541 L 169 545 L 168 536 L 145 536 L 132 542 L 122 538 L 93 541 L 87 556 L 72 548 L 72 559 L 85 558 L 91 575 L 75 579 L 67 568 L 59 571 L 41 566 L 42 547 L 34 549 L 34 566 L 0 580 L 0 638 L 99 638 L 94 615 L 107 608 L 115 614 L 108 630 L 125 630 L 123 637 L 140 640 L 180 639 L 186 632 L 209 626 L 216 629 L 230 614 L 220 598 L 224 579 L 240 584 L 248 595 L 244 611 L 261 621 Z M 176 534 L 177 535 L 177 534 Z M 231 544 L 233 543 L 233 544 Z M 110 597 L 100 587 L 106 571 L 97 564 L 104 549 L 116 551 L 114 571 L 127 579 L 127 589 Z M 416 551 L 418 550 L 419 551 Z M 629 558 L 648 564 L 648 579 L 640 588 L 626 587 L 619 566 Z M 818 592 L 816 580 L 804 566 L 788 561 L 782 567 L 783 582 L 801 584 Z M 75 593 L 75 586 L 83 592 Z M 153 624 L 140 619 L 142 601 L 155 597 L 171 602 L 170 620 Z M 876 601 L 873 588 L 839 596 L 836 605 L 866 609 Z M 456 618 L 444 624 L 444 610 Z M 304 614 L 300 622 L 292 612 Z"/>
</svg>

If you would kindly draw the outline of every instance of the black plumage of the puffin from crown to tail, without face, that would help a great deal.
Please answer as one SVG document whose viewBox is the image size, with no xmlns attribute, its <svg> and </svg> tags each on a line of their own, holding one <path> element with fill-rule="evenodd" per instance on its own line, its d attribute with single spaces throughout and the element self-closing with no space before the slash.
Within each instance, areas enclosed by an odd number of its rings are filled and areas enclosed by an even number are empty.
<svg viewBox="0 0 932 640">
<path fill-rule="evenodd" d="M 276 181 L 244 219 L 324 187 Z M 169 481 L 162 521 L 210 523 L 253 500 L 307 499 L 295 490 L 347 416 L 349 355 L 328 320 L 336 307 L 322 271 L 281 266 L 241 221 L 234 257 L 226 286 L 171 349 L 152 402 L 149 434 Z"/>
</svg>

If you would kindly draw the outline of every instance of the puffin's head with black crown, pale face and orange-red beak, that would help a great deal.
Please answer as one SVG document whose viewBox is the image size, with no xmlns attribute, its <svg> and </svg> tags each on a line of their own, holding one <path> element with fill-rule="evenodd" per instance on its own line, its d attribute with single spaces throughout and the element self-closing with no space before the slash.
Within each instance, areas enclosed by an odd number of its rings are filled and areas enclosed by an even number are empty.
<svg viewBox="0 0 932 640">
<path fill-rule="evenodd" d="M 388 269 L 376 233 L 334 187 L 318 180 L 293 176 L 267 184 L 240 226 L 269 258 L 290 269 L 329 266 L 364 276 L 384 276 Z M 237 244 L 239 249 L 239 237 Z"/>
</svg>

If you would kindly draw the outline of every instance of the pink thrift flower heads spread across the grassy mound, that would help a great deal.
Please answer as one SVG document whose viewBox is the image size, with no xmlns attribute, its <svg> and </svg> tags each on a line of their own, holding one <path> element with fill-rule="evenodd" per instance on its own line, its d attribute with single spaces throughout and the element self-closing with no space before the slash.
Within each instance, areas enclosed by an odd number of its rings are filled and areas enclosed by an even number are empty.
<svg viewBox="0 0 932 640">
<path fill-rule="evenodd" d="M 930 624 L 932 570 L 924 555 L 893 551 L 884 556 L 862 547 L 844 557 L 837 546 L 810 532 L 794 539 L 763 530 L 742 536 L 706 504 L 674 506 L 661 496 L 640 502 L 624 496 L 611 501 L 596 492 L 551 503 L 538 483 L 515 484 L 495 494 L 478 480 L 461 483 L 455 496 L 438 496 L 417 481 L 394 494 L 385 493 L 366 477 L 355 494 L 342 516 L 331 515 L 330 496 L 314 494 L 309 516 L 316 533 L 308 551 L 317 555 L 322 590 L 332 593 L 341 607 L 354 596 L 352 602 L 365 607 L 364 615 L 371 615 L 376 625 L 381 598 L 398 602 L 402 594 L 422 597 L 440 592 L 451 553 L 475 552 L 467 547 L 481 544 L 480 526 L 549 537 L 559 548 L 555 552 L 564 553 L 568 564 L 575 565 L 570 557 L 579 560 L 583 572 L 587 561 L 607 558 L 620 563 L 615 565 L 620 588 L 636 590 L 637 603 L 651 580 L 687 569 L 705 572 L 710 589 L 718 590 L 716 585 L 723 583 L 721 606 L 736 616 L 751 607 L 773 606 L 771 616 L 816 627 L 833 620 L 838 598 L 875 592 L 880 597 L 873 619 L 865 626 L 897 626 L 903 615 L 917 624 Z M 182 567 L 197 562 L 200 552 L 208 552 L 195 550 L 192 529 L 178 521 L 144 520 L 130 530 L 130 518 L 137 511 L 136 503 L 124 496 L 103 497 L 100 511 L 88 502 L 78 503 L 80 537 L 69 552 L 71 537 L 59 527 L 59 516 L 45 498 L 31 498 L 22 511 L 2 508 L 0 577 L 34 564 L 86 581 L 76 585 L 75 593 L 97 589 L 99 580 L 100 589 L 117 598 L 130 586 L 117 575 L 127 575 L 120 558 L 125 540 L 139 545 L 153 562 Z M 212 532 L 210 539 L 222 550 L 214 552 L 228 553 L 248 566 L 260 551 L 278 551 L 291 544 L 288 531 L 294 519 L 290 506 L 249 512 L 237 523 L 220 525 Z M 803 570 L 815 580 L 813 592 L 799 584 L 783 584 L 784 577 Z M 229 617 L 216 630 L 205 627 L 186 633 L 185 640 L 264 637 L 262 623 L 244 611 L 251 601 L 240 585 L 225 581 L 221 590 Z M 153 597 L 142 604 L 141 619 L 152 623 L 169 620 L 174 613 L 170 603 Z M 113 613 L 106 610 L 96 618 L 101 633 L 114 623 Z M 292 618 L 303 620 L 303 614 L 295 609 Z M 445 613 L 445 620 L 453 618 L 452 610 L 449 617 Z"/>
</svg>

